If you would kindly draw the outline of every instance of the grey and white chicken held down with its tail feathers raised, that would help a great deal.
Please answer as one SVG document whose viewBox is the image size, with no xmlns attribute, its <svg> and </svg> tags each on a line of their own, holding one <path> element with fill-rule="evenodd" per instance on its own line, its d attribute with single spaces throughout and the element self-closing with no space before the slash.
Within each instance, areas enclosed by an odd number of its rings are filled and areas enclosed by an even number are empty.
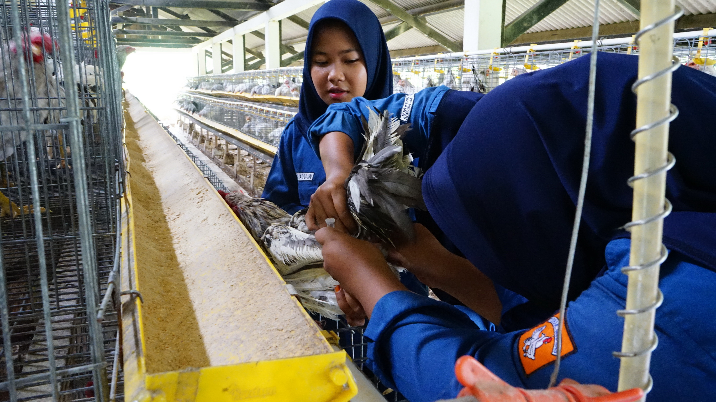
<svg viewBox="0 0 716 402">
<path fill-rule="evenodd" d="M 359 226 L 357 237 L 379 241 L 387 255 L 388 246 L 414 236 L 406 210 L 425 208 L 420 171 L 411 166 L 412 156 L 402 146 L 401 137 L 409 125 L 400 126 L 387 111 L 370 111 L 363 126 L 366 143 L 362 158 L 346 181 L 348 206 Z M 294 286 L 305 308 L 329 318 L 342 314 L 333 290 L 337 283 L 318 268 L 323 262 L 321 244 L 306 226 L 307 208 L 289 216 L 265 199 L 238 191 L 222 195 L 269 253 L 286 283 Z M 396 274 L 404 269 L 390 266 Z"/>
</svg>

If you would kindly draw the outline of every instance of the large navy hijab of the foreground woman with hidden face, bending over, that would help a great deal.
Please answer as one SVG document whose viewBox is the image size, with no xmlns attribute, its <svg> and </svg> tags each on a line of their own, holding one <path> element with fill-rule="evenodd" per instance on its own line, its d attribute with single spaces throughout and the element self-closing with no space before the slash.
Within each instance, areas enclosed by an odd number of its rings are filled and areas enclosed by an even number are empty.
<svg viewBox="0 0 716 402">
<path fill-rule="evenodd" d="M 604 267 L 606 243 L 631 220 L 637 56 L 599 53 L 594 139 L 569 297 Z M 589 56 L 498 86 L 470 111 L 423 180 L 433 218 L 487 276 L 558 308 L 584 155 Z M 682 66 L 673 75 L 667 174 L 674 212 L 664 243 L 716 270 L 716 79 Z"/>
</svg>

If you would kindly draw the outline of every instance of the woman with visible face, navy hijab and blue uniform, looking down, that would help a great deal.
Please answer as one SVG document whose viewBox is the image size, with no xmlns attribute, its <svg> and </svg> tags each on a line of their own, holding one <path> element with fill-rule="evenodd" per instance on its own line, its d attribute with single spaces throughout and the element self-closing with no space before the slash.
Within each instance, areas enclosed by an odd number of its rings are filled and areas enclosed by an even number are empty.
<svg viewBox="0 0 716 402">
<path fill-rule="evenodd" d="M 329 104 L 354 97 L 381 99 L 393 92 L 390 53 L 380 23 L 357 0 L 332 0 L 309 26 L 299 113 L 281 135 L 263 198 L 288 213 L 309 206 L 326 181 L 321 161 L 306 141 L 309 127 Z"/>
</svg>

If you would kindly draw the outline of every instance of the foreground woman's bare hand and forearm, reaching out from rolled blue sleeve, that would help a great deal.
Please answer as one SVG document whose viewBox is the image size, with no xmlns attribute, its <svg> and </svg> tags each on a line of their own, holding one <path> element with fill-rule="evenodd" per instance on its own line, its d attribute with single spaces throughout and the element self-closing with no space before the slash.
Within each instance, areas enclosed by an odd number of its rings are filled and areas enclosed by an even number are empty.
<svg viewBox="0 0 716 402">
<path fill-rule="evenodd" d="M 354 296 L 368 318 L 387 293 L 407 291 L 374 244 L 329 227 L 317 231 L 316 240 L 323 245 L 324 268 Z"/>
</svg>

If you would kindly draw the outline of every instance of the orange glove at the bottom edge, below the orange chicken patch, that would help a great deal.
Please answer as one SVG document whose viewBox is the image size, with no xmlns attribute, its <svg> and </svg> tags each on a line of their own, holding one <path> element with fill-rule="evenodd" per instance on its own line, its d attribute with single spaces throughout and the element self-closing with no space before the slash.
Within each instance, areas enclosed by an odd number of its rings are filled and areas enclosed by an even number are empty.
<svg viewBox="0 0 716 402">
<path fill-rule="evenodd" d="M 465 386 L 458 398 L 474 396 L 480 402 L 634 402 L 644 397 L 639 388 L 611 393 L 603 386 L 580 384 L 569 378 L 548 389 L 515 388 L 472 356 L 458 358 L 455 376 Z"/>
</svg>

